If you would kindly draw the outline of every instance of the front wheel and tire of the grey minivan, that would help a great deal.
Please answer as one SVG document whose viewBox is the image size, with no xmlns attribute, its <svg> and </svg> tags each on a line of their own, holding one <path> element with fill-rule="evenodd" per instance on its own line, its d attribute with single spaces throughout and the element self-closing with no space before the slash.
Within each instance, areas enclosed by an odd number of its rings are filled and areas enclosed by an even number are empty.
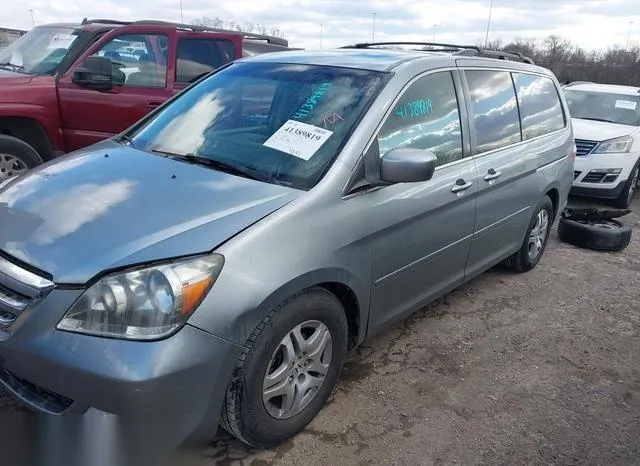
<svg viewBox="0 0 640 466">
<path fill-rule="evenodd" d="M 227 388 L 222 426 L 259 448 L 302 431 L 333 391 L 347 339 L 344 308 L 323 288 L 278 306 L 245 344 Z"/>
</svg>

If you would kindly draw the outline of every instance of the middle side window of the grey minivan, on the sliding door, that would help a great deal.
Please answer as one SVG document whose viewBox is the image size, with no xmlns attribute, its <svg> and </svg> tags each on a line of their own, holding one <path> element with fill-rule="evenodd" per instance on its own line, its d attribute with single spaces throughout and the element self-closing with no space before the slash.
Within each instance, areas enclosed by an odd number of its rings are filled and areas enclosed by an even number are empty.
<svg viewBox="0 0 640 466">
<path fill-rule="evenodd" d="M 467 70 L 477 153 L 520 142 L 516 93 L 508 71 Z"/>
</svg>

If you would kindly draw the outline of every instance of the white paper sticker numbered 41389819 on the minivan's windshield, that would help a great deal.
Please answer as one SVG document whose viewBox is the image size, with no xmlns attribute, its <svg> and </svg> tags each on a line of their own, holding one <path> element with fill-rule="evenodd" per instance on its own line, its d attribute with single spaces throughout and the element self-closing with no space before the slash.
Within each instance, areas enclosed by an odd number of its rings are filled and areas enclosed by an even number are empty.
<svg viewBox="0 0 640 466">
<path fill-rule="evenodd" d="M 264 145 L 309 160 L 332 134 L 328 129 L 289 120 Z"/>
</svg>

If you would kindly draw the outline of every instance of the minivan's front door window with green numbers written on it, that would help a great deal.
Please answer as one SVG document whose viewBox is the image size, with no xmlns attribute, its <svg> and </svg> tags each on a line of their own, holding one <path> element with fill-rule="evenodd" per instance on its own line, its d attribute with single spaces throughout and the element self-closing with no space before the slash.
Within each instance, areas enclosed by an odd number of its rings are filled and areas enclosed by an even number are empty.
<svg viewBox="0 0 640 466">
<path fill-rule="evenodd" d="M 431 150 L 443 165 L 462 158 L 458 98 L 451 72 L 419 78 L 402 94 L 378 133 L 380 155 L 397 147 Z"/>
</svg>

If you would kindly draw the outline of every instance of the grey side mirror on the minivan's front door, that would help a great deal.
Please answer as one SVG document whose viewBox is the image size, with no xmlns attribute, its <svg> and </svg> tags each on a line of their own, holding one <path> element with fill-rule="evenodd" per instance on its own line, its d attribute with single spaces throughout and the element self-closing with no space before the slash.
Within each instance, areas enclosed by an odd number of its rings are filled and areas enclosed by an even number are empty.
<svg viewBox="0 0 640 466">
<path fill-rule="evenodd" d="M 382 156 L 380 179 L 386 183 L 415 183 L 433 177 L 438 158 L 430 150 L 398 147 Z"/>
</svg>

